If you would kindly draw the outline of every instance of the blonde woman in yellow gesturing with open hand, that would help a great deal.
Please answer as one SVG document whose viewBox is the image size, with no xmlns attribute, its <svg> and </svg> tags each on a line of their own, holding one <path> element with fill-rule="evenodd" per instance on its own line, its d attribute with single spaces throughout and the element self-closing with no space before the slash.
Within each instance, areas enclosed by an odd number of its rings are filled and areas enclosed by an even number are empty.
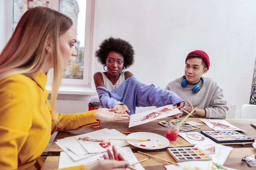
<svg viewBox="0 0 256 170">
<path fill-rule="evenodd" d="M 47 7 L 28 10 L 0 53 L 0 169 L 39 170 L 40 157 L 51 133 L 77 130 L 101 120 L 128 119 L 115 109 L 99 108 L 63 115 L 55 111 L 63 71 L 77 53 L 72 20 Z M 47 101 L 46 74 L 53 68 L 52 106 Z M 128 166 L 113 148 L 114 157 L 72 170 L 111 170 Z M 106 157 L 105 157 L 106 158 Z"/>
</svg>

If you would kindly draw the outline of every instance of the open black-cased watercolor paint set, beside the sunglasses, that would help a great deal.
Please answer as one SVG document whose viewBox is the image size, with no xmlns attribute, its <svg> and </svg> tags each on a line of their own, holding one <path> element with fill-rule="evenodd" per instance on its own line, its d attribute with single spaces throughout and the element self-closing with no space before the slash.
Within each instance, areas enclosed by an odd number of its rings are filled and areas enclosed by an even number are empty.
<svg viewBox="0 0 256 170">
<path fill-rule="evenodd" d="M 236 130 L 202 130 L 201 133 L 218 144 L 254 142 L 252 137 L 246 136 Z"/>
</svg>

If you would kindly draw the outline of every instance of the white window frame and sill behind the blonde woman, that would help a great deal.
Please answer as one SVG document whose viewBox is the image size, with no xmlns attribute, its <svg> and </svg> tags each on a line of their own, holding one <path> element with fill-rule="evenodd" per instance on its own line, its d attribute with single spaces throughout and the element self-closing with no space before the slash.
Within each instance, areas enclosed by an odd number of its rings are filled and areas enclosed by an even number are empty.
<svg viewBox="0 0 256 170">
<path fill-rule="evenodd" d="M 86 4 L 86 27 L 85 27 L 85 45 L 84 45 L 84 70 L 83 77 L 84 79 L 63 79 L 62 84 L 59 88 L 58 94 L 63 95 L 75 95 L 77 98 L 78 95 L 96 95 L 96 89 L 92 83 L 92 56 L 93 54 L 93 21 L 94 21 L 94 2 L 95 0 L 87 0 Z M 3 37 L 4 45 L 7 43 L 9 38 L 13 33 L 13 1 L 5 0 L 5 35 Z M 58 0 L 49 0 L 49 7 L 55 10 L 58 10 L 59 2 Z M 11 12 L 9 12 L 11 11 Z M 10 29 L 11 28 L 11 29 Z M 50 74 L 48 74 L 50 75 Z M 86 78 L 85 78 L 86 77 Z M 50 79 L 51 77 L 48 77 Z M 46 89 L 51 93 L 52 91 L 52 82 L 47 82 Z M 64 97 L 65 98 L 65 97 Z M 68 98 L 68 97 L 67 97 Z M 79 98 L 79 97 L 78 97 Z"/>
</svg>

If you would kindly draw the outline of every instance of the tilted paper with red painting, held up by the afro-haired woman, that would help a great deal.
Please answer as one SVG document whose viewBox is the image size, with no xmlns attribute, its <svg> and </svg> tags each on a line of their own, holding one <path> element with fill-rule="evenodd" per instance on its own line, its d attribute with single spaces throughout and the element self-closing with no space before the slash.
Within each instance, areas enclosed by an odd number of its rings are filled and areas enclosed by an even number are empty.
<svg viewBox="0 0 256 170">
<path fill-rule="evenodd" d="M 176 115 L 181 113 L 178 108 L 173 109 L 173 105 L 166 105 L 152 110 L 148 110 L 141 113 L 136 113 L 130 115 L 129 128 L 133 126 L 138 126 L 141 124 L 146 124 L 150 121 L 161 119 L 164 117 Z"/>
</svg>

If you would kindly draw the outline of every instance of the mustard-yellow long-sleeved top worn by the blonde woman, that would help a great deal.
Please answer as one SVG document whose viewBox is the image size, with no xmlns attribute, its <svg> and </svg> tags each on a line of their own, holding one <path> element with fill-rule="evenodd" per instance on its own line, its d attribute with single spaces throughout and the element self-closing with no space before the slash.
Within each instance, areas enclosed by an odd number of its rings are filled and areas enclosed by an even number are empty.
<svg viewBox="0 0 256 170">
<path fill-rule="evenodd" d="M 45 89 L 46 75 L 40 71 L 34 79 L 13 75 L 0 81 L 0 170 L 17 170 L 34 164 L 55 131 L 78 130 L 97 124 L 95 110 L 78 114 L 57 114 L 55 127 Z M 37 165 L 26 170 L 40 169 Z M 38 167 L 36 167 L 38 166 Z M 65 170 L 84 170 L 84 166 Z"/>
</svg>

